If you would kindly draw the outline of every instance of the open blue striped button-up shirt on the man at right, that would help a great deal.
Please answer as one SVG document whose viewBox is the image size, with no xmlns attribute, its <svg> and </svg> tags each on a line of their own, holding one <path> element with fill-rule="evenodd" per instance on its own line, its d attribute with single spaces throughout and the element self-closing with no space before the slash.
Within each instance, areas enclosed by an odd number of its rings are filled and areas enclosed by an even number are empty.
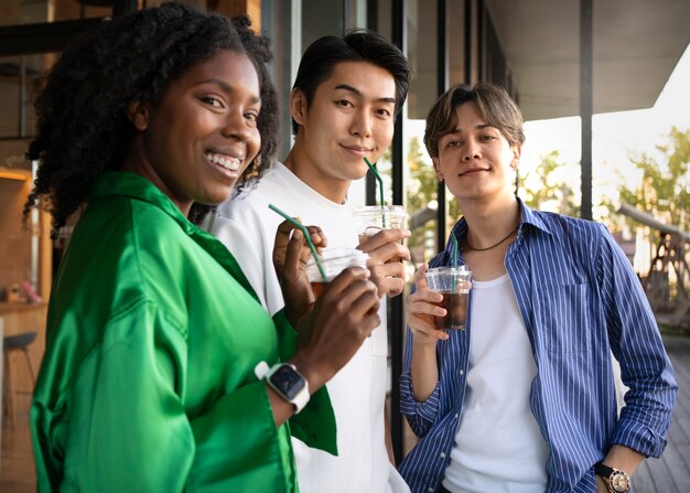
<svg viewBox="0 0 690 493">
<path fill-rule="evenodd" d="M 614 443 L 661 454 L 678 386 L 640 282 L 608 231 L 521 202 L 520 208 L 505 266 L 537 365 L 529 400 L 550 447 L 547 492 L 594 492 L 593 464 Z M 452 234 L 462 243 L 466 233 L 463 218 Z M 430 267 L 450 265 L 452 251 L 449 242 Z M 400 472 L 412 492 L 439 491 L 450 462 L 465 396 L 472 311 L 466 331 L 450 335 L 436 346 L 439 384 L 418 403 L 407 331 L 401 410 L 420 441 Z M 629 387 L 619 418 L 611 352 Z"/>
</svg>

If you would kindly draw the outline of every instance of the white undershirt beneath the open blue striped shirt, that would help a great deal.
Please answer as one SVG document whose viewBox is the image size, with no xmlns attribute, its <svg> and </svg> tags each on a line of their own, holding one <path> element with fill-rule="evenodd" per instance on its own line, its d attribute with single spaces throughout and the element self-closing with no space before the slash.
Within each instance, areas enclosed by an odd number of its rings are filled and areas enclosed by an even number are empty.
<svg viewBox="0 0 690 493">
<path fill-rule="evenodd" d="M 472 281 L 467 387 L 443 485 L 545 491 L 549 447 L 529 408 L 537 368 L 508 275 Z"/>
</svg>

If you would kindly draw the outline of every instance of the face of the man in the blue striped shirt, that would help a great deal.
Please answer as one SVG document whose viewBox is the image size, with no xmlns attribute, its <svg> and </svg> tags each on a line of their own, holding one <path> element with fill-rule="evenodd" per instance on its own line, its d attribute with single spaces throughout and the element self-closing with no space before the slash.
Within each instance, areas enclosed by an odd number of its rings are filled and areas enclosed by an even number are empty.
<svg viewBox="0 0 690 493">
<path fill-rule="evenodd" d="M 476 103 L 455 109 L 457 124 L 439 139 L 439 157 L 433 165 L 440 180 L 461 203 L 513 200 L 513 184 L 521 147 L 510 146 L 506 137 L 490 127 Z"/>
</svg>

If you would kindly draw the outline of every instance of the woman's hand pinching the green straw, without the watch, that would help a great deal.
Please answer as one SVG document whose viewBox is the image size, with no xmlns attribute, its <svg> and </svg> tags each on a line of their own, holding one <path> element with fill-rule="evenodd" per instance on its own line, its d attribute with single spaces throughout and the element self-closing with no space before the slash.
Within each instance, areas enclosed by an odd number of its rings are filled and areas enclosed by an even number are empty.
<svg viewBox="0 0 690 493">
<path fill-rule="evenodd" d="M 308 226 L 306 231 L 320 253 L 327 244 L 325 235 L 317 226 Z M 311 256 L 312 251 L 302 232 L 289 221 L 280 223 L 276 232 L 273 266 L 285 301 L 285 315 L 293 328 L 300 324 L 314 303 L 312 287 L 304 270 Z"/>
</svg>

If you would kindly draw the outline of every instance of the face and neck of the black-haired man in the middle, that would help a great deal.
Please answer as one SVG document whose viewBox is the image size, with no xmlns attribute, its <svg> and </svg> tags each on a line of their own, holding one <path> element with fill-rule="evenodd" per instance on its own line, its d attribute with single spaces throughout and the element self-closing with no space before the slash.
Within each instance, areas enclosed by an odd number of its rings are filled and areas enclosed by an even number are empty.
<svg viewBox="0 0 690 493">
<path fill-rule="evenodd" d="M 285 165 L 322 195 L 342 201 L 349 183 L 366 174 L 364 158 L 374 163 L 390 144 L 395 109 L 389 72 L 367 62 L 336 64 L 311 103 L 293 92 L 291 111 L 300 127 Z"/>
</svg>

